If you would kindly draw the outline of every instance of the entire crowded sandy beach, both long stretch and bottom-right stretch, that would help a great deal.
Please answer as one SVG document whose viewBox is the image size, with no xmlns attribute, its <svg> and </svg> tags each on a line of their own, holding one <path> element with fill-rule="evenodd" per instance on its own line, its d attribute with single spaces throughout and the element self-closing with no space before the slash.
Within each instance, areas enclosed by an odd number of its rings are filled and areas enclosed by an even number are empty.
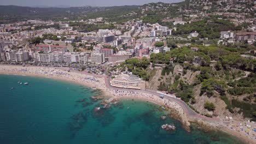
<svg viewBox="0 0 256 144">
<path fill-rule="evenodd" d="M 170 107 L 172 110 L 175 110 L 179 113 L 179 116 L 182 118 L 182 123 L 189 125 L 189 117 L 184 112 L 181 105 L 174 103 L 167 99 L 161 99 L 158 95 L 144 93 L 144 92 L 133 92 L 133 91 L 122 91 L 118 89 L 108 88 L 105 85 L 104 76 L 94 76 L 85 73 L 79 73 L 75 71 L 67 71 L 60 68 L 50 68 L 50 67 L 21 67 L 18 65 L 0 65 L 0 74 L 11 74 L 11 75 L 25 75 L 25 76 L 36 76 L 36 77 L 47 77 L 50 79 L 62 80 L 67 82 L 79 83 L 91 88 L 101 89 L 104 96 L 113 97 L 115 99 L 135 99 L 150 101 L 152 103 L 163 105 L 165 107 Z M 223 124 L 220 122 L 217 127 L 226 133 L 240 137 L 243 141 L 247 143 L 256 143 L 255 132 L 251 130 L 249 133 L 245 133 L 245 124 L 238 124 L 239 122 L 233 122 L 229 125 Z M 232 125 L 233 124 L 233 125 Z M 234 126 L 236 124 L 236 126 Z M 242 127 L 242 128 L 241 128 Z M 252 128 L 256 125 L 252 124 Z"/>
</svg>

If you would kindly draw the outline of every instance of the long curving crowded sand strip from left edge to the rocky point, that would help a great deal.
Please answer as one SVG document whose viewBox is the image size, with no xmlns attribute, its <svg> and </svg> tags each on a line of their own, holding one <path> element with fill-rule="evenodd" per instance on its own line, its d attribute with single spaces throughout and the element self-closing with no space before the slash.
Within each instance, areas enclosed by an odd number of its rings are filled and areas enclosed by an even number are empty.
<svg viewBox="0 0 256 144">
<path fill-rule="evenodd" d="M 46 77 L 55 80 L 62 80 L 67 82 L 79 83 L 80 85 L 88 86 L 91 88 L 101 89 L 106 97 L 114 97 L 118 99 L 136 99 L 142 101 L 150 101 L 158 105 L 165 105 L 177 110 L 181 114 L 185 122 L 188 122 L 187 116 L 184 115 L 184 111 L 178 104 L 168 101 L 167 99 L 161 99 L 158 95 L 143 93 L 143 92 L 131 92 L 131 91 L 118 91 L 115 89 L 107 88 L 105 85 L 104 77 L 96 77 L 85 73 L 79 73 L 70 71 L 65 68 L 50 68 L 50 67 L 22 67 L 19 65 L 0 65 L 0 74 L 11 75 L 24 75 L 35 77 Z"/>
</svg>

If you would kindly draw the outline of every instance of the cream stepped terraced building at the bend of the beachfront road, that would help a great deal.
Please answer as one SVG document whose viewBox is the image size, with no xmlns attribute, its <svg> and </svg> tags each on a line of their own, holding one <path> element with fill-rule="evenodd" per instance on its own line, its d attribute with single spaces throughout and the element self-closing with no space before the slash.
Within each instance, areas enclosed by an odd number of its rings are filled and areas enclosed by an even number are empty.
<svg viewBox="0 0 256 144">
<path fill-rule="evenodd" d="M 110 80 L 110 85 L 119 88 L 141 89 L 143 82 L 138 76 L 126 71 Z"/>
</svg>

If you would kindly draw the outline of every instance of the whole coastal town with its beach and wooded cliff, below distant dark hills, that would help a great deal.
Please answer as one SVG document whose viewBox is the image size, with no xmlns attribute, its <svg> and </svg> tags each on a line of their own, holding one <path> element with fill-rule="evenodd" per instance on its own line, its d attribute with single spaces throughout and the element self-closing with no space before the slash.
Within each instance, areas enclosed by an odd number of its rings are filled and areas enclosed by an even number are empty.
<svg viewBox="0 0 256 144">
<path fill-rule="evenodd" d="M 95 11 L 0 20 L 0 74 L 150 101 L 184 127 L 196 121 L 256 143 L 255 1 L 149 3 L 117 19 Z"/>
</svg>

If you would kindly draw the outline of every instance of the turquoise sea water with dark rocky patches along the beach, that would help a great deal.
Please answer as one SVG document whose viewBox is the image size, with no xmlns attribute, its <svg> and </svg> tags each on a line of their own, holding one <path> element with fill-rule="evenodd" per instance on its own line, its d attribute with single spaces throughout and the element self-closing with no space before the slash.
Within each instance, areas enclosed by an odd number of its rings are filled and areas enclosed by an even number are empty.
<svg viewBox="0 0 256 144">
<path fill-rule="evenodd" d="M 241 143 L 220 132 L 188 133 L 172 118 L 161 120 L 165 112 L 146 102 L 123 100 L 96 113 L 101 101 L 90 97 L 98 94 L 73 83 L 0 75 L 0 143 Z M 177 130 L 162 130 L 166 123 Z"/>
</svg>

